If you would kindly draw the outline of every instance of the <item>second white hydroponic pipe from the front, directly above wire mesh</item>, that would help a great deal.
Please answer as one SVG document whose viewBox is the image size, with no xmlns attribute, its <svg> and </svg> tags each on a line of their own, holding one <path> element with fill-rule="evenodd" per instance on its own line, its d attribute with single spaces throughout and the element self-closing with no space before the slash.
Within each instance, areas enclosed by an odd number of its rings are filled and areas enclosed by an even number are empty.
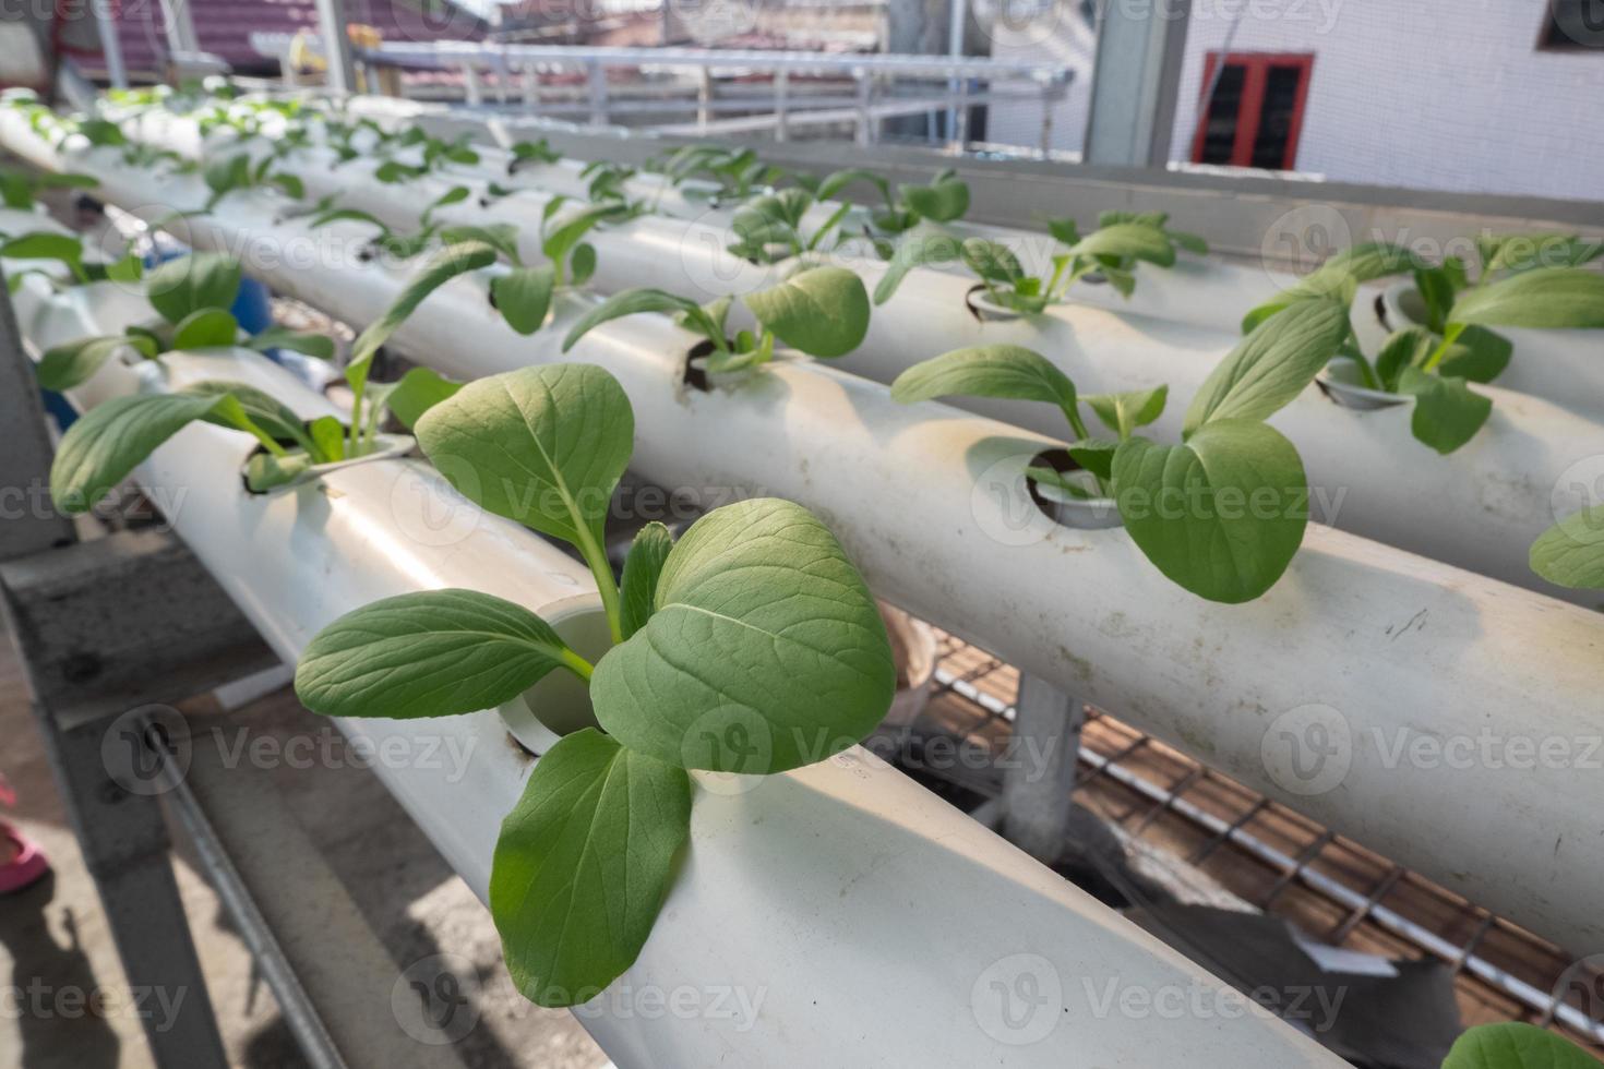
<svg viewBox="0 0 1604 1069">
<path fill-rule="evenodd" d="M 194 197 L 192 178 L 157 186 L 75 162 L 148 218 Z M 388 308 L 409 268 L 350 255 L 359 224 L 308 231 L 279 223 L 281 210 L 245 192 L 178 229 L 348 322 Z M 1604 785 L 1574 766 L 1423 764 L 1408 748 L 1484 731 L 1583 745 L 1598 729 L 1598 614 L 1318 526 L 1269 595 L 1205 603 L 1158 575 L 1123 530 L 1070 530 L 1035 511 L 1022 473 L 1044 438 L 946 405 L 898 405 L 884 386 L 808 361 L 704 393 L 685 383 L 691 335 L 656 316 L 606 324 L 563 357 L 573 317 L 565 309 L 518 337 L 468 277 L 430 296 L 393 343 L 465 378 L 600 364 L 635 405 L 645 478 L 794 498 L 826 518 L 882 596 L 1551 939 L 1604 946 L 1591 894 L 1604 856 L 1590 832 Z M 1341 768 L 1309 793 L 1270 755 L 1314 721 L 1338 734 L 1307 742 L 1336 739 Z M 1554 840 L 1530 833 L 1532 813 Z"/>
</svg>

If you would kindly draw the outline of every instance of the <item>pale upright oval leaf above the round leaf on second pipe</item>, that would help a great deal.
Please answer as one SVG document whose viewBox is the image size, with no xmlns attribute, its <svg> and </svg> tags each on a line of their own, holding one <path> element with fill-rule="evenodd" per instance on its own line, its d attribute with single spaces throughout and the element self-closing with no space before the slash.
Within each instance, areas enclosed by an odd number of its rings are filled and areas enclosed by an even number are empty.
<svg viewBox="0 0 1604 1069">
<path fill-rule="evenodd" d="M 1347 306 L 1314 298 L 1275 313 L 1198 386 L 1182 436 L 1214 420 L 1266 420 L 1301 394 L 1343 348 Z"/>
</svg>

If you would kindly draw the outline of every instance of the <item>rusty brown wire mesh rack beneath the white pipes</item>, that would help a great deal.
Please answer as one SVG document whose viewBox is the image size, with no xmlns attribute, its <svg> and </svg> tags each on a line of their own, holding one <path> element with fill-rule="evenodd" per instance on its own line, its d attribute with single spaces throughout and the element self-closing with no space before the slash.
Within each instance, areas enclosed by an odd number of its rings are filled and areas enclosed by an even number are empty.
<svg viewBox="0 0 1604 1069">
<path fill-rule="evenodd" d="M 1019 672 L 940 631 L 937 664 L 911 729 L 950 753 L 930 761 L 921 750 L 909 771 L 975 808 L 1001 790 Z M 1445 962 L 1466 1026 L 1525 1021 L 1604 1056 L 1604 955 L 1578 960 L 1102 710 L 1086 715 L 1075 800 L 1129 841 L 1184 859 L 1320 942 Z"/>
</svg>

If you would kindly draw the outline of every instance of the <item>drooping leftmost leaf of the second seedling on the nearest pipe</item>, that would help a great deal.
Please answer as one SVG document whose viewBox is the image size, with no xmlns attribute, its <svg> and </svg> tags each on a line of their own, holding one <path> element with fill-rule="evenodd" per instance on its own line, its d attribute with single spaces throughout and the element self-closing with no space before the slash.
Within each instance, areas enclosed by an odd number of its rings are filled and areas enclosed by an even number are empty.
<svg viewBox="0 0 1604 1069">
<path fill-rule="evenodd" d="M 223 396 L 130 394 L 95 405 L 61 436 L 50 465 L 50 500 L 64 513 L 88 511 L 157 446 L 226 401 Z"/>
</svg>

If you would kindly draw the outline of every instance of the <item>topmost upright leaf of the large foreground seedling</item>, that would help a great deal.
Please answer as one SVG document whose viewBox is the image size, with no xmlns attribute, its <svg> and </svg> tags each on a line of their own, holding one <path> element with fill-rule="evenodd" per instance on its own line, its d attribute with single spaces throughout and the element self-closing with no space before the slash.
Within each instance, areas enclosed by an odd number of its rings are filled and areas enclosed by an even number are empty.
<svg viewBox="0 0 1604 1069">
<path fill-rule="evenodd" d="M 417 439 L 470 500 L 579 545 L 600 542 L 635 444 L 635 415 L 600 367 L 525 367 L 436 404 L 417 422 Z"/>
</svg>

